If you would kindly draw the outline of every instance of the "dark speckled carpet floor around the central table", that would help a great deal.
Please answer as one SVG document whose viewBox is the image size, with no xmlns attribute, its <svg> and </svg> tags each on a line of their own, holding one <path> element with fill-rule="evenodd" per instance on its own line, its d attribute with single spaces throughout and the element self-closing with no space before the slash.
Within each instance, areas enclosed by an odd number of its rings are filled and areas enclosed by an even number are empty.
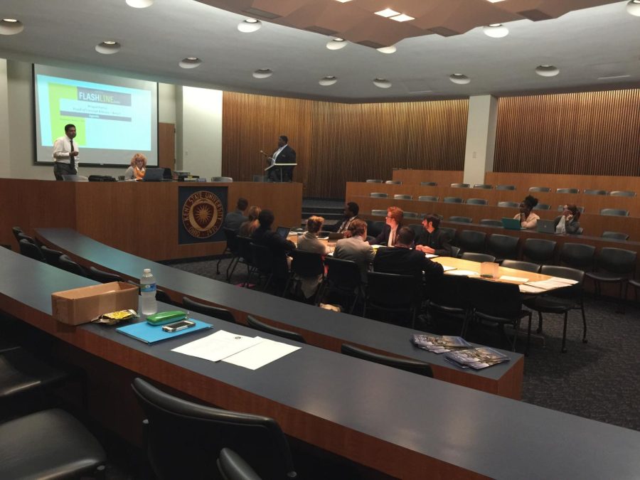
<svg viewBox="0 0 640 480">
<path fill-rule="evenodd" d="M 171 266 L 224 281 L 229 260 L 172 263 Z M 245 279 L 239 266 L 232 283 Z M 562 316 L 545 314 L 543 341 L 533 342 L 525 359 L 523 401 L 540 407 L 579 415 L 612 425 L 640 430 L 638 393 L 640 385 L 640 309 L 629 304 L 618 314 L 619 304 L 606 299 L 585 300 L 588 343 L 582 343 L 580 311 L 570 312 L 567 327 L 567 353 L 560 353 Z M 533 330 L 537 314 L 533 315 Z M 428 328 L 429 326 L 427 326 Z M 445 326 L 446 330 L 446 326 Z M 450 331 L 434 333 L 456 334 Z M 471 331 L 470 341 L 508 348 L 501 336 Z M 519 341 L 518 351 L 522 351 Z"/>
</svg>

